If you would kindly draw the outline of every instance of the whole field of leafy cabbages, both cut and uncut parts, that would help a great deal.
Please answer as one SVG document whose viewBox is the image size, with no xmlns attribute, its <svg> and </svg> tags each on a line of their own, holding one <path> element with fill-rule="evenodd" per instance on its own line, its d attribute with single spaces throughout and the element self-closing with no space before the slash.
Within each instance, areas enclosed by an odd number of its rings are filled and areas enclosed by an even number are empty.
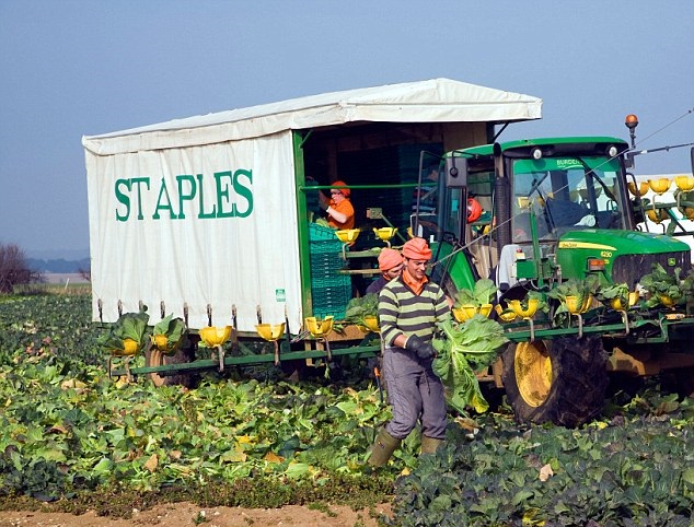
<svg viewBox="0 0 694 527">
<path fill-rule="evenodd" d="M 342 364 L 292 382 L 274 366 L 195 389 L 108 378 L 86 295 L 0 297 L 0 508 L 127 516 L 167 501 L 278 507 L 392 503 L 392 526 L 694 525 L 694 401 L 651 379 L 576 430 L 451 410 L 446 447 L 365 468 L 390 408 Z M 329 373 L 329 371 L 328 371 Z"/>
</svg>

